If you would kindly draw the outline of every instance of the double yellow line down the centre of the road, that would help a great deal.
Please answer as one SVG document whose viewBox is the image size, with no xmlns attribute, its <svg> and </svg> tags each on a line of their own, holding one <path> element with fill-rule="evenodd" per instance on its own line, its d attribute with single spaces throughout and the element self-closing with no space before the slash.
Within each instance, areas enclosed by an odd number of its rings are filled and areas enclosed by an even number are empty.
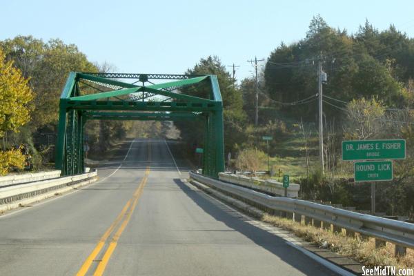
<svg viewBox="0 0 414 276">
<path fill-rule="evenodd" d="M 150 159 L 151 159 L 151 150 L 150 150 L 150 144 L 148 143 L 148 161 L 150 161 Z M 99 239 L 97 246 L 95 246 L 95 248 L 92 250 L 92 253 L 90 253 L 88 258 L 86 258 L 86 261 L 83 262 L 81 268 L 79 269 L 77 273 L 77 276 L 83 276 L 83 275 L 86 275 L 86 273 L 88 273 L 88 270 L 90 266 L 92 265 L 92 262 L 94 262 L 97 255 L 101 253 L 103 246 L 105 246 L 106 240 L 114 232 L 115 228 L 117 228 L 117 226 L 119 225 L 119 222 L 122 221 L 121 225 L 117 229 L 117 232 L 115 233 L 115 235 L 112 236 L 110 244 L 108 248 L 106 249 L 105 253 L 103 254 L 103 257 L 101 261 L 99 262 L 95 270 L 95 273 L 93 273 L 94 276 L 103 274 L 103 271 L 105 271 L 106 265 L 109 262 L 110 256 L 112 255 L 115 248 L 117 247 L 119 237 L 121 237 L 122 232 L 124 232 L 126 226 L 128 225 L 128 222 L 130 221 L 132 213 L 134 212 L 135 206 L 137 206 L 138 199 L 142 195 L 142 192 L 146 185 L 146 181 L 148 179 L 149 174 L 150 174 L 150 167 L 147 166 L 144 177 L 141 180 L 141 183 L 139 183 L 138 188 L 135 190 L 134 194 L 132 195 L 132 198 L 126 202 L 124 208 L 122 208 L 121 210 L 121 213 L 119 213 L 115 221 L 113 221 L 112 224 L 109 226 L 109 228 L 105 231 L 105 233 L 103 233 L 101 239 Z"/>
</svg>

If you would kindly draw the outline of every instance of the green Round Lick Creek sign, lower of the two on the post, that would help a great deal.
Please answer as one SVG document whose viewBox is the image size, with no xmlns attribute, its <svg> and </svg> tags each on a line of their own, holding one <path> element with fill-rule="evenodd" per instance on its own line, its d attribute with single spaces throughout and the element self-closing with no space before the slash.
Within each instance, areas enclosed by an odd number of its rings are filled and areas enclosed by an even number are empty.
<svg viewBox="0 0 414 276">
<path fill-rule="evenodd" d="M 393 161 L 355 162 L 355 181 L 393 180 Z"/>
</svg>

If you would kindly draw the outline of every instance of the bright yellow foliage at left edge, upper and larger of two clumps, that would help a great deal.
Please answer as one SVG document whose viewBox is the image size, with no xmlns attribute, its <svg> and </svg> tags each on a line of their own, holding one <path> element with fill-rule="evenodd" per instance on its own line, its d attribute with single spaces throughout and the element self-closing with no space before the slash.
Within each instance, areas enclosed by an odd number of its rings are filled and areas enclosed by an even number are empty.
<svg viewBox="0 0 414 276">
<path fill-rule="evenodd" d="M 21 71 L 6 61 L 0 49 L 0 137 L 8 130 L 17 132 L 30 121 L 28 103 L 33 93 Z"/>
</svg>

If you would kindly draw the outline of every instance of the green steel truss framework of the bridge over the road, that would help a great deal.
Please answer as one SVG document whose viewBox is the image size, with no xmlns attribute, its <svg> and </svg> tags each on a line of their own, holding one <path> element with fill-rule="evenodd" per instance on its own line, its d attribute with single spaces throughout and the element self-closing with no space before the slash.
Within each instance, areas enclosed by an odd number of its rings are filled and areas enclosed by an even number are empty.
<svg viewBox="0 0 414 276">
<path fill-rule="evenodd" d="M 155 84 L 150 79 L 173 81 Z M 208 87 L 208 97 L 172 92 L 184 86 Z M 62 175 L 83 172 L 83 128 L 90 119 L 204 121 L 203 173 L 217 177 L 224 171 L 223 104 L 215 75 L 70 72 L 59 108 L 56 168 Z"/>
</svg>

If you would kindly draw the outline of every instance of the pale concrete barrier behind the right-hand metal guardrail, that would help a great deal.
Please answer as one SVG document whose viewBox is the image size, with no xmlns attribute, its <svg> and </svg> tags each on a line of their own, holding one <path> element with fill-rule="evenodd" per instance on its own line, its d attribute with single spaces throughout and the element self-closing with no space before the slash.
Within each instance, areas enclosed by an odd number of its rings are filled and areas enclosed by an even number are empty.
<svg viewBox="0 0 414 276">
<path fill-rule="evenodd" d="M 265 193 L 284 196 L 283 184 L 275 180 L 264 180 L 257 177 L 245 177 L 244 175 L 234 175 L 225 172 L 219 172 L 219 179 L 233 184 L 253 188 Z M 299 184 L 289 184 L 288 197 L 297 198 L 300 190 Z"/>
</svg>

